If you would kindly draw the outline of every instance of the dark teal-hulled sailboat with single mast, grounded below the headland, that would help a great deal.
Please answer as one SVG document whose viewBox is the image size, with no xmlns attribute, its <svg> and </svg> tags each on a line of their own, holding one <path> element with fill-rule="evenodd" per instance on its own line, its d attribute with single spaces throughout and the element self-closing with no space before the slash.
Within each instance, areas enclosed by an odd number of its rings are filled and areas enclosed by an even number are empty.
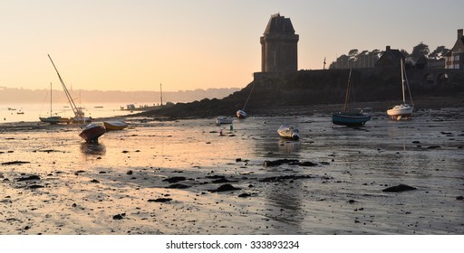
<svg viewBox="0 0 464 253">
<path fill-rule="evenodd" d="M 344 98 L 343 111 L 334 113 L 332 115 L 332 123 L 341 126 L 363 126 L 367 121 L 371 120 L 371 116 L 365 114 L 361 110 L 348 110 L 348 100 L 350 99 L 350 92 L 352 89 L 351 84 L 352 70 L 348 76 L 348 85 L 346 87 L 346 94 Z"/>
</svg>

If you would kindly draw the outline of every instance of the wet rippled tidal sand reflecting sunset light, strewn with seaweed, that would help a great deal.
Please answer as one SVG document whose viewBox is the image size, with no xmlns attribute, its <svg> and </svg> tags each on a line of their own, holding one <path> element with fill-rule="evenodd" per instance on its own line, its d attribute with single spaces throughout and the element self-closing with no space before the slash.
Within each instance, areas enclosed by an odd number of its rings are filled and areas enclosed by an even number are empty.
<svg viewBox="0 0 464 253">
<path fill-rule="evenodd" d="M 463 234 L 464 112 L 0 127 L 2 234 Z M 292 124 L 299 141 L 276 129 Z M 220 136 L 220 131 L 223 136 Z M 286 160 L 285 160 L 286 159 Z M 268 161 L 268 162 L 266 162 Z M 267 166 L 266 166 L 267 164 Z M 384 192 L 397 185 L 413 188 Z M 223 192 L 223 190 L 225 190 Z"/>
</svg>

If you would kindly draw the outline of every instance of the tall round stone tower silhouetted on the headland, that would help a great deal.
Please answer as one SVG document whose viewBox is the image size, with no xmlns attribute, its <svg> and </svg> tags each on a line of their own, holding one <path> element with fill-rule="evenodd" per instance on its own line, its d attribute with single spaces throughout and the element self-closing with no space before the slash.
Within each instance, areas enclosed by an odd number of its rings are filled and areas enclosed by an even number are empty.
<svg viewBox="0 0 464 253">
<path fill-rule="evenodd" d="M 284 72 L 298 70 L 298 34 L 290 18 L 273 14 L 260 38 L 261 71 Z"/>
</svg>

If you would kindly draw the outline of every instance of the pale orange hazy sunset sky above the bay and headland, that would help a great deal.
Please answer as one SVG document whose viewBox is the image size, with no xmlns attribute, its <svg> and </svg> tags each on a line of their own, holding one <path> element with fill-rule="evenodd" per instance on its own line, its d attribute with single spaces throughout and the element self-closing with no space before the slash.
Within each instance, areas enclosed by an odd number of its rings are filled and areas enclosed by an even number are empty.
<svg viewBox="0 0 464 253">
<path fill-rule="evenodd" d="M 0 0 L 0 87 L 243 88 L 261 70 L 272 14 L 299 34 L 298 69 L 351 49 L 451 48 L 464 1 Z"/>
</svg>

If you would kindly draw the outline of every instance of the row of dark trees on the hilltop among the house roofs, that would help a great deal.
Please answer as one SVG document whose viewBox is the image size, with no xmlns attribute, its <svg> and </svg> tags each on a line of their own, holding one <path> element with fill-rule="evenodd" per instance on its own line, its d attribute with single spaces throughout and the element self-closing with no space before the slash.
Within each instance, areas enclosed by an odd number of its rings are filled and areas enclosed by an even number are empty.
<svg viewBox="0 0 464 253">
<path fill-rule="evenodd" d="M 379 60 L 383 52 L 384 51 L 378 49 L 372 50 L 371 52 L 367 50 L 360 52 L 358 49 L 352 49 L 348 54 L 343 54 L 339 56 L 336 61 L 333 61 L 329 69 L 373 68 L 375 62 Z M 441 61 L 449 52 L 449 49 L 445 46 L 438 46 L 434 51 L 430 52 L 429 46 L 420 42 L 412 48 L 411 53 L 403 49 L 401 49 L 400 52 L 404 57 L 411 57 L 414 60 L 424 56 L 429 61 Z"/>
</svg>

